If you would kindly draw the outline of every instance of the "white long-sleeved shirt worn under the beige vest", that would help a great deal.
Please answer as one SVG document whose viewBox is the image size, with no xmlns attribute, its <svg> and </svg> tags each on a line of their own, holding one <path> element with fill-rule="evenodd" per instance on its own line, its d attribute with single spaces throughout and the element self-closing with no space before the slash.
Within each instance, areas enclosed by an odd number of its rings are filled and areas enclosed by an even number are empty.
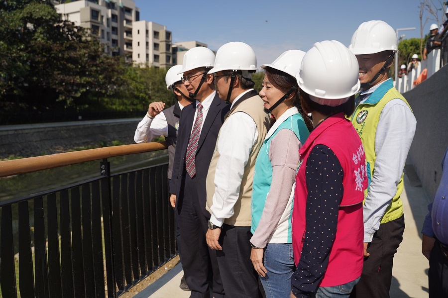
<svg viewBox="0 0 448 298">
<path fill-rule="evenodd" d="M 250 89 L 252 90 L 252 89 Z M 233 104 L 245 93 L 232 101 Z M 215 195 L 211 207 L 210 221 L 222 226 L 225 218 L 233 215 L 233 206 L 238 200 L 244 167 L 249 160 L 252 146 L 257 142 L 258 129 L 255 121 L 244 112 L 235 112 L 225 121 L 220 130 L 218 152 L 220 159 L 216 165 Z"/>
</svg>

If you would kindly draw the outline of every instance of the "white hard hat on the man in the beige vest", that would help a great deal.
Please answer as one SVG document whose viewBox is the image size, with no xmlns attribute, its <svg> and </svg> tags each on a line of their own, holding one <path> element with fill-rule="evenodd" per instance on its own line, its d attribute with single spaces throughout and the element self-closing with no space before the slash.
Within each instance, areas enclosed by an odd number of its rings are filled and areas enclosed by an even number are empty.
<svg viewBox="0 0 448 298">
<path fill-rule="evenodd" d="M 229 42 L 216 52 L 215 67 L 209 74 L 224 70 L 240 70 L 243 78 L 251 79 L 257 70 L 257 57 L 253 49 L 239 41 Z"/>
</svg>

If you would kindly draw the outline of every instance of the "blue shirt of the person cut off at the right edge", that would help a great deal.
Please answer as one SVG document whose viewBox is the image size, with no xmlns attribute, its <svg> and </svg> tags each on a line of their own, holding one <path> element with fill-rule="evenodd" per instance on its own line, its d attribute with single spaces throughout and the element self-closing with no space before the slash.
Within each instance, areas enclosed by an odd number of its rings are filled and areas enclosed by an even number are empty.
<svg viewBox="0 0 448 298">
<path fill-rule="evenodd" d="M 422 234 L 437 237 L 448 245 L 448 148 L 442 159 L 442 179 L 434 201 L 428 205 L 429 213 L 423 222 Z"/>
</svg>

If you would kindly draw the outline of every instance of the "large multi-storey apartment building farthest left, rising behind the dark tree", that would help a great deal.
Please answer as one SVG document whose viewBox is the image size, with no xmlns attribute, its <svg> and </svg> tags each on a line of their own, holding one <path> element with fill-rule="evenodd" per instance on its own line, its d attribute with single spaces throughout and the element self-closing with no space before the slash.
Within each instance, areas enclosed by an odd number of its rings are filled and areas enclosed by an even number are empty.
<svg viewBox="0 0 448 298">
<path fill-rule="evenodd" d="M 133 22 L 140 20 L 140 10 L 133 0 L 71 0 L 55 4 L 62 18 L 90 28 L 106 45 L 112 56 L 132 57 Z"/>
</svg>

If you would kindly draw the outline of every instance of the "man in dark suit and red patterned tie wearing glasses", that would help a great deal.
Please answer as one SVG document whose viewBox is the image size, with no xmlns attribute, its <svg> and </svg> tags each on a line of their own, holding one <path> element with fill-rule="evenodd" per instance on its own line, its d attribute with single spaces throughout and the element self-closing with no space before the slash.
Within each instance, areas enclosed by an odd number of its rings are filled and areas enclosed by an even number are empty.
<svg viewBox="0 0 448 298">
<path fill-rule="evenodd" d="M 224 297 L 224 288 L 216 260 L 207 246 L 205 234 L 210 214 L 205 209 L 206 178 L 216 146 L 218 132 L 229 106 L 215 92 L 213 76 L 208 74 L 215 54 L 205 47 L 185 53 L 182 82 L 195 102 L 186 106 L 179 120 L 170 202 L 176 208 L 180 226 L 182 267 L 191 296 Z"/>
</svg>

